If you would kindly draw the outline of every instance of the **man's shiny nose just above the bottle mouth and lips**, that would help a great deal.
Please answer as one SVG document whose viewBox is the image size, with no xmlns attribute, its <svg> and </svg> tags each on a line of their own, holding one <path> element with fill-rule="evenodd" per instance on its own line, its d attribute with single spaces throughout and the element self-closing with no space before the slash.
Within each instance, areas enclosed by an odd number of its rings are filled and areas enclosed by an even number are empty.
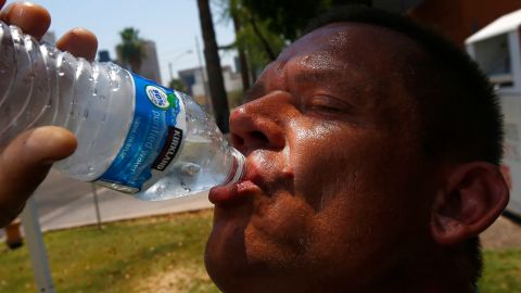
<svg viewBox="0 0 521 293">
<path fill-rule="evenodd" d="M 247 155 L 255 150 L 281 150 L 285 145 L 283 130 L 284 93 L 265 95 L 237 107 L 230 114 L 231 142 Z"/>
</svg>

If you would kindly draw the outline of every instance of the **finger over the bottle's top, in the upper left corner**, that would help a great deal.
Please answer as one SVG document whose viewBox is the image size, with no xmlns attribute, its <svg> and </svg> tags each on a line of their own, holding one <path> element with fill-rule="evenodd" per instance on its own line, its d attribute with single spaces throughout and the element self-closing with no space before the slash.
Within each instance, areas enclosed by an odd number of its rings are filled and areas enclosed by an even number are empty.
<svg viewBox="0 0 521 293">
<path fill-rule="evenodd" d="M 7 24 L 18 26 L 25 34 L 31 35 L 38 40 L 51 25 L 49 12 L 40 5 L 29 2 L 15 2 L 8 5 L 0 13 L 0 20 Z"/>
</svg>

